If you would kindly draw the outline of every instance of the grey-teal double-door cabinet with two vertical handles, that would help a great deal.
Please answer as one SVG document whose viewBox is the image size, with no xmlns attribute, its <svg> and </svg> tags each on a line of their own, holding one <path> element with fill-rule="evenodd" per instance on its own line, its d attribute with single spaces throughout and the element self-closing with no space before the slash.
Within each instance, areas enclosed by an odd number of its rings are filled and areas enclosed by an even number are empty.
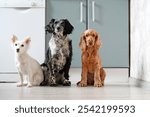
<svg viewBox="0 0 150 117">
<path fill-rule="evenodd" d="M 129 0 L 47 0 L 46 24 L 51 18 L 68 19 L 74 26 L 72 67 L 81 67 L 82 32 L 96 29 L 101 36 L 104 67 L 129 67 Z M 48 42 L 50 35 L 46 36 Z M 48 45 L 46 45 L 47 47 Z"/>
</svg>

